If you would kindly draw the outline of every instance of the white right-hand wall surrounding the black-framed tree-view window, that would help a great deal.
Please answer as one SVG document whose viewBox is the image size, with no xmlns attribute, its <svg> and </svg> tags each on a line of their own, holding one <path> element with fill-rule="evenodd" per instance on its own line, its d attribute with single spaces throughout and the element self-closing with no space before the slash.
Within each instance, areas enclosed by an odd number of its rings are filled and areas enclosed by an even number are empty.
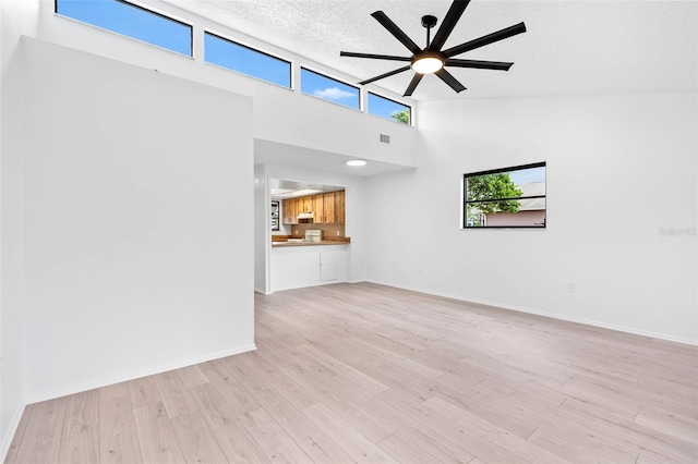
<svg viewBox="0 0 698 464">
<path fill-rule="evenodd" d="M 697 100 L 420 103 L 420 168 L 366 181 L 369 280 L 697 343 L 696 236 L 661 234 L 696 230 Z M 535 161 L 546 230 L 458 229 L 462 173 Z"/>
</svg>

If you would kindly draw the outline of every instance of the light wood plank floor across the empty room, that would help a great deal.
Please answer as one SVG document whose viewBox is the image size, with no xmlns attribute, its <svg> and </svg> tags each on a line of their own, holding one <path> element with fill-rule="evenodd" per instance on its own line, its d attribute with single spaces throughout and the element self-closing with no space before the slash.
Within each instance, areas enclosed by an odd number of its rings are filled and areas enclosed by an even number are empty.
<svg viewBox="0 0 698 464">
<path fill-rule="evenodd" d="M 698 347 L 374 284 L 258 350 L 27 406 L 8 463 L 695 463 Z"/>
</svg>

